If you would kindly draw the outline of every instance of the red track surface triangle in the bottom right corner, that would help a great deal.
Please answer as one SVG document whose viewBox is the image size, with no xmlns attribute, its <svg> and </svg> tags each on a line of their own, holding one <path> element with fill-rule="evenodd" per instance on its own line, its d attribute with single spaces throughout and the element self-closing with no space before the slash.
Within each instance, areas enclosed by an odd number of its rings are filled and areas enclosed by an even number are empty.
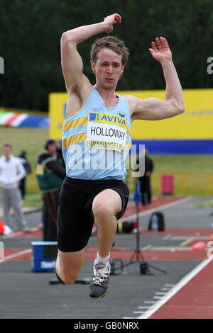
<svg viewBox="0 0 213 333">
<path fill-rule="evenodd" d="M 192 278 L 184 284 L 180 290 L 168 299 L 158 310 L 148 310 L 141 316 L 146 319 L 212 319 L 213 318 L 213 257 L 206 259 L 206 266 L 204 261 L 200 264 L 202 269 L 198 269 Z M 197 266 L 199 267 L 199 266 Z M 196 270 L 196 268 L 195 268 Z M 193 271 L 195 271 L 193 270 Z M 192 271 L 192 273 L 193 273 Z M 181 284 L 181 281 L 180 281 Z M 176 287 L 177 286 L 177 287 Z M 176 285 L 174 288 L 178 288 Z M 173 289 L 174 290 L 174 289 Z M 166 296 L 165 296 L 166 298 Z M 153 312 L 150 316 L 148 312 Z"/>
</svg>

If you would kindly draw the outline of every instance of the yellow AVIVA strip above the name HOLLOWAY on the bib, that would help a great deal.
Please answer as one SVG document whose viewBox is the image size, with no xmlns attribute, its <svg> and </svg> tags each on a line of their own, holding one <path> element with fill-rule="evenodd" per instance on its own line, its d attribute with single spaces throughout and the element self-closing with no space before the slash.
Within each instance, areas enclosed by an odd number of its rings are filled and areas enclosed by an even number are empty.
<svg viewBox="0 0 213 333">
<path fill-rule="evenodd" d="M 109 115 L 107 113 L 89 113 L 89 121 L 95 123 L 105 123 L 109 125 L 118 125 L 122 128 L 126 128 L 126 119 L 119 115 Z"/>
</svg>

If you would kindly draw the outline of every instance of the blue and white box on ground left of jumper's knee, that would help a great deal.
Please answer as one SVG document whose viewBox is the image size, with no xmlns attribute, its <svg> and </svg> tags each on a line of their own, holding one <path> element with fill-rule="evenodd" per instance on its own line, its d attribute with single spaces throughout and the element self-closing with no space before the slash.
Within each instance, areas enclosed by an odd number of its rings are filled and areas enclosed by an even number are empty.
<svg viewBox="0 0 213 333">
<path fill-rule="evenodd" d="M 31 242 L 33 247 L 32 270 L 55 271 L 58 242 Z"/>
</svg>

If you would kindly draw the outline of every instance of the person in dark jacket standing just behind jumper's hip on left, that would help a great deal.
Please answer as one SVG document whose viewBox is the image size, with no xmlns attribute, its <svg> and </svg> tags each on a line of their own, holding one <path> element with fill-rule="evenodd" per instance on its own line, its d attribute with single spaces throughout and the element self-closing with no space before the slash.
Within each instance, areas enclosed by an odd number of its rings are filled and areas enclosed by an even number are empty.
<svg viewBox="0 0 213 333">
<path fill-rule="evenodd" d="M 43 240 L 57 240 L 58 198 L 66 176 L 60 149 L 54 140 L 45 143 L 46 152 L 40 154 L 35 168 L 38 186 L 43 193 Z"/>
</svg>

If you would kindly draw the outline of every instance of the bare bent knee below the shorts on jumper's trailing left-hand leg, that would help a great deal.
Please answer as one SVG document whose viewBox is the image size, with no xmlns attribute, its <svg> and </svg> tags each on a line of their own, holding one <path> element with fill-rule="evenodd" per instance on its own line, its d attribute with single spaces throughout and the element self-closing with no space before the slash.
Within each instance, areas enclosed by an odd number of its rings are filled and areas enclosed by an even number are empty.
<svg viewBox="0 0 213 333">
<path fill-rule="evenodd" d="M 58 250 L 55 264 L 55 272 L 57 276 L 65 284 L 74 283 L 82 269 L 83 260 L 84 249 L 76 252 L 61 252 Z"/>
</svg>

